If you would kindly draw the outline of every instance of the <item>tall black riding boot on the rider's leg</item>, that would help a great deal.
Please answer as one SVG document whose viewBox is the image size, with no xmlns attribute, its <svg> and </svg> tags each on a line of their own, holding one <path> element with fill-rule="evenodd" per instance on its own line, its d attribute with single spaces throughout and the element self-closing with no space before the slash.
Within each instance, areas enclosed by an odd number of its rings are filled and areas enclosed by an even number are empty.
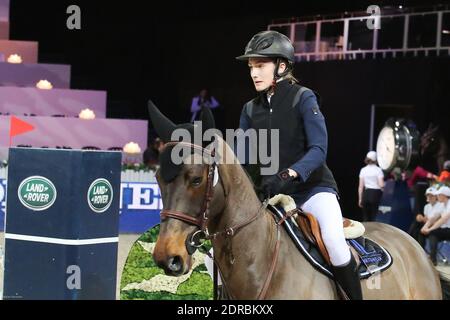
<svg viewBox="0 0 450 320">
<path fill-rule="evenodd" d="M 361 282 L 357 267 L 353 255 L 346 265 L 333 266 L 334 277 L 350 300 L 362 300 Z"/>
</svg>

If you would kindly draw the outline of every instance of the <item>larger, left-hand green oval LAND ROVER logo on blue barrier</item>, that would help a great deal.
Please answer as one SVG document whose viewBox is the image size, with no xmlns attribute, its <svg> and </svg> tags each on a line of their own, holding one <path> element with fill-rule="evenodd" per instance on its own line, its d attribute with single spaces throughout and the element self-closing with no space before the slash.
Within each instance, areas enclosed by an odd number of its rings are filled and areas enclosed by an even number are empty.
<svg viewBox="0 0 450 320">
<path fill-rule="evenodd" d="M 41 211 L 50 208 L 55 202 L 56 188 L 47 178 L 32 176 L 20 183 L 17 195 L 25 207 Z"/>
</svg>

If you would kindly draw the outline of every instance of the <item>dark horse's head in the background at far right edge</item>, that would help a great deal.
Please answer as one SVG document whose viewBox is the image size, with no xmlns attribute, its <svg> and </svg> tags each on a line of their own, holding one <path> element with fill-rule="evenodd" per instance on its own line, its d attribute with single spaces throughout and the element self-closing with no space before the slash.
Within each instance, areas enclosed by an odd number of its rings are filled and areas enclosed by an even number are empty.
<svg viewBox="0 0 450 320">
<path fill-rule="evenodd" d="M 443 170 L 444 162 L 450 159 L 450 149 L 438 125 L 433 126 L 430 123 L 420 137 L 420 155 L 423 158 L 432 157 L 436 161 L 438 172 Z"/>
</svg>

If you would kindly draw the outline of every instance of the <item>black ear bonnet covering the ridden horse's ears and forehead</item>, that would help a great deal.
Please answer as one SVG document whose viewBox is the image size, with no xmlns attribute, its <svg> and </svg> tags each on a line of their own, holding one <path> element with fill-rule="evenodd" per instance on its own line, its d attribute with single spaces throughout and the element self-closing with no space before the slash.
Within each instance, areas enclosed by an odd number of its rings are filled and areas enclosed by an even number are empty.
<svg viewBox="0 0 450 320">
<path fill-rule="evenodd" d="M 194 143 L 194 124 L 192 123 L 183 123 L 179 125 L 175 125 L 172 121 L 170 121 L 166 116 L 164 116 L 161 111 L 153 104 L 151 100 L 148 101 L 148 112 L 150 114 L 150 119 L 153 124 L 153 127 L 155 128 L 156 133 L 159 135 L 161 140 L 164 143 L 167 143 L 171 140 L 172 132 L 176 129 L 185 129 L 189 131 L 191 134 L 192 141 L 186 141 L 189 143 Z M 214 124 L 214 117 L 211 113 L 211 110 L 209 108 L 202 108 L 202 114 L 201 114 L 201 121 L 202 121 L 202 135 L 203 132 L 215 128 Z M 203 139 L 202 139 L 203 140 Z M 181 139 L 179 141 L 182 141 Z M 207 144 L 209 144 L 210 141 L 202 141 L 201 147 L 206 147 Z M 161 165 L 160 167 L 160 174 L 164 182 L 169 183 L 172 180 L 174 180 L 178 174 L 181 171 L 182 163 L 181 164 L 175 164 L 172 161 L 171 154 L 174 146 L 167 146 L 163 149 L 161 154 L 159 155 L 159 163 Z M 191 153 L 194 152 L 194 148 L 191 148 Z M 189 155 L 189 154 L 186 154 Z"/>
</svg>

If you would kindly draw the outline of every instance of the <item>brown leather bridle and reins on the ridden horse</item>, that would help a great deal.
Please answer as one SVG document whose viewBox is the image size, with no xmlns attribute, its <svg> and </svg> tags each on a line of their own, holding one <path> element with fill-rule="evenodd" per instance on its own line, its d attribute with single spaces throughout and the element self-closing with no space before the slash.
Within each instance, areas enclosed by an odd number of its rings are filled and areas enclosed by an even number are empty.
<svg viewBox="0 0 450 320">
<path fill-rule="evenodd" d="M 170 141 L 164 145 L 164 148 L 169 147 L 169 146 L 175 146 L 175 145 L 182 145 L 185 147 L 193 148 L 194 150 L 201 151 L 201 152 L 203 152 L 203 154 L 207 154 L 207 155 L 211 156 L 212 159 L 214 159 L 214 157 L 216 155 L 214 148 L 212 150 L 208 150 L 206 148 L 203 148 L 201 146 L 198 146 L 198 145 L 195 145 L 192 143 L 188 143 L 188 142 Z M 185 212 L 172 210 L 172 209 L 163 209 L 163 210 L 161 210 L 161 213 L 160 213 L 161 221 L 168 219 L 168 218 L 173 218 L 173 219 L 183 221 L 187 224 L 194 225 L 198 228 L 198 230 L 191 233 L 190 237 L 188 236 L 188 238 L 186 239 L 186 249 L 187 249 L 189 255 L 192 255 L 195 252 L 195 250 L 202 247 L 203 242 L 206 240 L 215 240 L 218 237 L 225 237 L 225 238 L 231 239 L 240 229 L 242 229 L 243 227 L 245 227 L 245 226 L 249 225 L 250 223 L 252 223 L 253 221 L 255 221 L 262 212 L 265 212 L 267 205 L 268 205 L 268 199 L 267 199 L 266 201 L 263 202 L 263 204 L 261 205 L 258 212 L 251 218 L 247 219 L 246 221 L 244 221 L 242 223 L 234 225 L 232 227 L 228 227 L 222 231 L 218 231 L 213 234 L 210 234 L 209 230 L 208 230 L 210 203 L 211 203 L 211 200 L 214 195 L 214 185 L 213 185 L 214 175 L 215 175 L 216 171 L 218 172 L 218 170 L 217 170 L 216 161 L 211 161 L 211 163 L 207 164 L 207 165 L 208 165 L 208 176 L 207 176 L 207 182 L 206 182 L 205 198 L 203 200 L 203 205 L 200 209 L 200 212 L 197 214 L 197 217 L 193 217 L 192 215 L 189 215 Z M 219 177 L 219 180 L 221 180 L 220 177 Z M 223 184 L 222 184 L 222 187 L 223 187 Z M 227 198 L 227 194 L 226 194 L 224 187 L 223 187 L 223 190 L 225 193 L 225 198 Z M 272 263 L 271 263 L 271 266 L 269 269 L 269 274 L 267 275 L 264 285 L 263 285 L 260 293 L 258 294 L 258 297 L 257 297 L 258 299 L 265 298 L 265 295 L 269 288 L 269 284 L 272 280 L 273 273 L 275 271 L 275 266 L 276 266 L 276 262 L 278 260 L 278 252 L 279 252 L 279 247 L 280 247 L 280 230 L 279 230 L 280 224 L 281 224 L 280 222 L 276 224 L 276 226 L 277 226 L 277 242 L 275 245 L 274 257 L 273 257 L 273 260 L 272 260 Z M 209 252 L 206 252 L 206 254 L 214 261 L 214 263 L 216 264 L 216 266 L 219 269 L 219 273 L 223 274 L 220 270 L 219 264 L 216 262 L 215 257 L 211 256 L 211 254 Z M 234 263 L 234 258 L 232 258 L 232 260 L 230 262 Z M 225 288 L 227 288 L 223 276 L 222 276 L 222 282 L 223 282 L 223 285 L 225 286 Z M 228 292 L 228 293 L 230 294 L 230 292 Z"/>
</svg>

